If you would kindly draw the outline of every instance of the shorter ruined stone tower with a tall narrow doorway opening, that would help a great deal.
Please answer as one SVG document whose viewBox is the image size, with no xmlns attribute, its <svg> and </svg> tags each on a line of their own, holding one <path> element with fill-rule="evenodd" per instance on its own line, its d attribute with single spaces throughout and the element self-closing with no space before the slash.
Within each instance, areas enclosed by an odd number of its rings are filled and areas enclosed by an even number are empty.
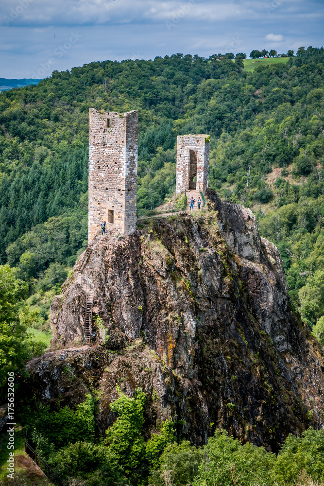
<svg viewBox="0 0 324 486">
<path fill-rule="evenodd" d="M 179 135 L 175 193 L 205 191 L 208 187 L 209 136 Z"/>
</svg>

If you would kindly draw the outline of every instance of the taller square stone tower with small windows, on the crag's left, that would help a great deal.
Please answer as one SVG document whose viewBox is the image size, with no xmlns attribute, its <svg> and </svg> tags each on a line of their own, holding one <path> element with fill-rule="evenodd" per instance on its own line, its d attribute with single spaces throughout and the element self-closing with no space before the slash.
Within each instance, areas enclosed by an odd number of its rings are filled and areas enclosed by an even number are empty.
<svg viewBox="0 0 324 486">
<path fill-rule="evenodd" d="M 106 231 L 136 230 L 137 143 L 137 111 L 89 109 L 89 242 L 102 221 Z"/>
</svg>

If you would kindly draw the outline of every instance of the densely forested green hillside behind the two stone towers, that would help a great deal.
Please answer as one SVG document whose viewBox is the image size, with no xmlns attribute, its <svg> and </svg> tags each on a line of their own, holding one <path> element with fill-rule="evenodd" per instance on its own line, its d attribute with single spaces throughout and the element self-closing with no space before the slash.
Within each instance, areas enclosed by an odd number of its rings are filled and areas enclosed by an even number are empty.
<svg viewBox="0 0 324 486">
<path fill-rule="evenodd" d="M 210 134 L 210 185 L 258 211 L 313 327 L 324 313 L 323 69 L 323 48 L 252 72 L 174 54 L 54 71 L 0 94 L 2 263 L 30 292 L 35 278 L 43 290 L 62 281 L 86 245 L 88 108 L 138 109 L 138 208 L 172 196 L 176 136 Z"/>
</svg>

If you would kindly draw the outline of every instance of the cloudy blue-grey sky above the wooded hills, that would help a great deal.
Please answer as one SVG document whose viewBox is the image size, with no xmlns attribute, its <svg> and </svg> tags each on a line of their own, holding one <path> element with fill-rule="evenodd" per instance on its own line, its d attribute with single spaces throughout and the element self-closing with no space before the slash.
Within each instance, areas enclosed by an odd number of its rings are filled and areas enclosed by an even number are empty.
<svg viewBox="0 0 324 486">
<path fill-rule="evenodd" d="M 0 0 L 0 77 L 92 61 L 324 44 L 324 0 Z"/>
</svg>

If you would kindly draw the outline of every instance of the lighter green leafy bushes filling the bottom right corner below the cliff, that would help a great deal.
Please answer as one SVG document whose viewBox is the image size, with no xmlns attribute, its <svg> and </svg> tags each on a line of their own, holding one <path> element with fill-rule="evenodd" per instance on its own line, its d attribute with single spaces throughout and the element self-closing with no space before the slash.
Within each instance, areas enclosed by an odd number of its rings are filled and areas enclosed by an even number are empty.
<svg viewBox="0 0 324 486">
<path fill-rule="evenodd" d="M 277 456 L 252 444 L 242 446 L 219 430 L 198 450 L 188 442 L 172 444 L 161 455 L 159 468 L 151 471 L 149 484 L 311 486 L 312 481 L 324 481 L 324 430 L 309 428 L 302 437 L 289 435 Z"/>
</svg>

